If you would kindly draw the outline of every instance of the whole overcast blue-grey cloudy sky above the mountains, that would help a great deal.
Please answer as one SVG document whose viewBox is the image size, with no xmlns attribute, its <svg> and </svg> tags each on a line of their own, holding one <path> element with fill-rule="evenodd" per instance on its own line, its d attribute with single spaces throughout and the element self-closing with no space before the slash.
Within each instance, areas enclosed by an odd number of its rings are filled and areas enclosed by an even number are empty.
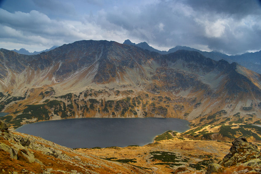
<svg viewBox="0 0 261 174">
<path fill-rule="evenodd" d="M 147 42 L 225 54 L 261 50 L 260 0 L 0 0 L 0 48 L 78 40 Z"/>
</svg>

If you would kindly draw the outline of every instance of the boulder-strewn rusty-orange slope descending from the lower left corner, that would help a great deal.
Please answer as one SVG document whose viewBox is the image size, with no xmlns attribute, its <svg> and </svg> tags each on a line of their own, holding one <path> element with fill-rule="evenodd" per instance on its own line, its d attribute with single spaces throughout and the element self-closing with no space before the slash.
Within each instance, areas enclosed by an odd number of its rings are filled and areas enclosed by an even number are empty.
<svg viewBox="0 0 261 174">
<path fill-rule="evenodd" d="M 149 173 L 142 167 L 104 160 L 40 137 L 10 131 L 2 120 L 0 129 L 0 173 L 3 174 Z"/>
</svg>

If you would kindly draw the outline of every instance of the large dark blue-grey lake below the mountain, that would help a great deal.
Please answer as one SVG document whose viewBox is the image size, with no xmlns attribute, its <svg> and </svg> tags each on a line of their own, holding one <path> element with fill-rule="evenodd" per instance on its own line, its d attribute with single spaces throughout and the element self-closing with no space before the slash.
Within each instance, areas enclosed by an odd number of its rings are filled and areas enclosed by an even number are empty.
<svg viewBox="0 0 261 174">
<path fill-rule="evenodd" d="M 71 148 L 143 146 L 168 130 L 183 132 L 189 122 L 176 118 L 80 118 L 26 124 L 16 131 Z"/>
</svg>

